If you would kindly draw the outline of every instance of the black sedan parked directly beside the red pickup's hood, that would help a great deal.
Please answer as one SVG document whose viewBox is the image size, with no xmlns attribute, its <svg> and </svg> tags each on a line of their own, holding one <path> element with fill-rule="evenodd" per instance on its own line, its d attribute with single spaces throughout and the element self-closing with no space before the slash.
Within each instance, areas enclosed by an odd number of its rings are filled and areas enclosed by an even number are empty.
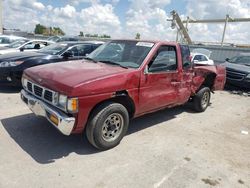
<svg viewBox="0 0 250 188">
<path fill-rule="evenodd" d="M 21 86 L 23 71 L 29 67 L 82 59 L 103 42 L 55 43 L 36 52 L 14 52 L 0 56 L 0 83 Z"/>
</svg>

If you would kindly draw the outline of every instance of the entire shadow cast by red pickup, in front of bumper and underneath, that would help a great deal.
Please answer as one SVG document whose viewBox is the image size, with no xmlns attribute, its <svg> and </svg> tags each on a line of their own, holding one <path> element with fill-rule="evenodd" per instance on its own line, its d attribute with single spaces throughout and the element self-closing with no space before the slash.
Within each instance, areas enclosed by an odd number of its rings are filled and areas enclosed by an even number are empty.
<svg viewBox="0 0 250 188">
<path fill-rule="evenodd" d="M 186 106 L 162 110 L 136 118 L 130 122 L 127 135 L 174 119 Z M 192 113 L 192 111 L 190 111 Z M 53 163 L 56 159 L 74 152 L 79 155 L 91 155 L 99 152 L 87 139 L 79 135 L 64 136 L 44 118 L 26 114 L 1 120 L 4 128 L 13 140 L 35 161 L 41 164 Z"/>
</svg>

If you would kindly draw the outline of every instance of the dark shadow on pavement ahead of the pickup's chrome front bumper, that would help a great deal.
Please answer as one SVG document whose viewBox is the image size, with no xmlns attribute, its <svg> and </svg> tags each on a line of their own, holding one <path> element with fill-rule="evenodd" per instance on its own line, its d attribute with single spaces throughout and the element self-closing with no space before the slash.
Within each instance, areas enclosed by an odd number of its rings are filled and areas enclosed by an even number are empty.
<svg viewBox="0 0 250 188">
<path fill-rule="evenodd" d="M 12 139 L 41 164 L 55 162 L 72 152 L 80 155 L 98 152 L 81 134 L 64 136 L 46 119 L 34 114 L 7 118 L 1 122 Z"/>
</svg>

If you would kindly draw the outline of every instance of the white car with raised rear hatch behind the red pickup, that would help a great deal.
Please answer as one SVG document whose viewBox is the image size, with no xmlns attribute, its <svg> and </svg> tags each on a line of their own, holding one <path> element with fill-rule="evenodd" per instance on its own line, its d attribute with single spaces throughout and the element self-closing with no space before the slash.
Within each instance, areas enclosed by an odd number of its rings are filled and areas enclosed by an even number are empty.
<svg viewBox="0 0 250 188">
<path fill-rule="evenodd" d="M 191 52 L 192 62 L 194 62 L 195 65 L 214 65 L 214 61 L 209 59 L 210 55 L 211 51 L 209 50 L 203 48 L 194 49 Z"/>
</svg>

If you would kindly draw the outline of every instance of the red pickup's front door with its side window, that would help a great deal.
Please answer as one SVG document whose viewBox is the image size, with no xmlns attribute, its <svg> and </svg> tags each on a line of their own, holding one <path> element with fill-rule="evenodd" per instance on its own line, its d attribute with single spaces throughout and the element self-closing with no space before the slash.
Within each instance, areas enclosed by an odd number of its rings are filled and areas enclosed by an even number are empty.
<svg viewBox="0 0 250 188">
<path fill-rule="evenodd" d="M 178 64 L 175 46 L 162 45 L 142 75 L 139 113 L 174 104 L 178 100 Z"/>
</svg>

